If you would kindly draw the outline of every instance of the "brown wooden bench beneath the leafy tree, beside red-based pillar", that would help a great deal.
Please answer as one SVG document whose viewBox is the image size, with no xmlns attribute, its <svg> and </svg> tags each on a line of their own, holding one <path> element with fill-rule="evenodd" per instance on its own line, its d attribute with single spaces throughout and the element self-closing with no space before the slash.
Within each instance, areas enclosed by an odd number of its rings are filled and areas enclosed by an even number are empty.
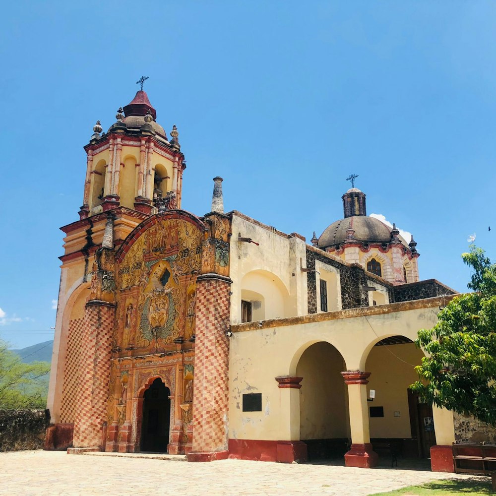
<svg viewBox="0 0 496 496">
<path fill-rule="evenodd" d="M 457 474 L 492 475 L 496 470 L 496 444 L 454 442 L 453 464 Z"/>
</svg>

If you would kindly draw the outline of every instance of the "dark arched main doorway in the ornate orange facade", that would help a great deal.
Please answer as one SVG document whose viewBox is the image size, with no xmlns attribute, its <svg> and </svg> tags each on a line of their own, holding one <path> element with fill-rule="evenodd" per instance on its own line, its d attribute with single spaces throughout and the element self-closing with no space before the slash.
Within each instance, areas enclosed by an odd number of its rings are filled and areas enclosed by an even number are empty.
<svg viewBox="0 0 496 496">
<path fill-rule="evenodd" d="M 157 377 L 144 392 L 141 451 L 166 452 L 169 444 L 171 391 Z"/>
</svg>

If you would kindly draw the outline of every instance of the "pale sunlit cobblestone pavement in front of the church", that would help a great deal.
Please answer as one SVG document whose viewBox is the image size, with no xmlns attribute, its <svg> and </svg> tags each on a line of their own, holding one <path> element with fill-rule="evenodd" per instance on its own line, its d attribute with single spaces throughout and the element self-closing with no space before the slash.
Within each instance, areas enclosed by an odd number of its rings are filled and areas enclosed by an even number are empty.
<svg viewBox="0 0 496 496">
<path fill-rule="evenodd" d="M 177 463 L 174 459 L 147 455 L 140 458 L 99 454 L 67 455 L 41 450 L 0 453 L 0 495 L 363 496 L 435 479 L 467 478 L 396 468 L 246 460 Z"/>
</svg>

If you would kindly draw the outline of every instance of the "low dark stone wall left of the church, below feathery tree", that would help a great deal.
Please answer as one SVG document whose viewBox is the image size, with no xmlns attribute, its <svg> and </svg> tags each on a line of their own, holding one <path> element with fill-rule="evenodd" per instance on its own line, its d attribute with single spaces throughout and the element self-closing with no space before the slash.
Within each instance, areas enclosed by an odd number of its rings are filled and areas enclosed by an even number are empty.
<svg viewBox="0 0 496 496">
<path fill-rule="evenodd" d="M 49 420 L 45 410 L 0 410 L 0 451 L 43 448 Z"/>
</svg>

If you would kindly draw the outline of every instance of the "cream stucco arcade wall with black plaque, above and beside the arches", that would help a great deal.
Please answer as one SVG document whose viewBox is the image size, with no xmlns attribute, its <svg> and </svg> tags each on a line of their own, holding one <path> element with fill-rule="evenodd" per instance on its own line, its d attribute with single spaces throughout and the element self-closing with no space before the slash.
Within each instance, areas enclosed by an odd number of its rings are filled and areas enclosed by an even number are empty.
<svg viewBox="0 0 496 496">
<path fill-rule="evenodd" d="M 284 319 L 280 325 L 274 320 L 258 324 L 260 327 L 255 327 L 255 323 L 232 326 L 234 335 L 231 338 L 229 370 L 230 437 L 299 439 L 299 398 L 303 391 L 300 393 L 298 389 L 278 388 L 275 377 L 297 375 L 297 366 L 304 351 L 320 341 L 332 344 L 340 352 L 345 362 L 344 370 L 367 371 L 367 356 L 377 341 L 398 334 L 414 340 L 419 329 L 435 324 L 439 304 L 437 301 L 431 304 L 429 308 L 413 308 L 410 304 L 399 304 L 393 308 L 412 309 L 391 311 L 392 308 L 389 307 L 385 310 L 387 313 L 377 313 L 380 311 L 379 307 L 326 312 Z M 428 307 L 427 304 L 425 306 Z M 317 317 L 325 320 L 310 321 L 311 318 Z M 283 325 L 284 322 L 295 320 L 301 320 L 302 323 Z M 308 323 L 305 320 L 309 320 Z M 254 328 L 242 331 L 250 326 Z M 388 359 L 388 362 L 391 363 L 391 359 Z M 402 369 L 396 368 L 395 365 L 394 371 L 396 370 Z M 380 377 L 379 373 L 377 375 Z M 307 379 L 303 378 L 302 390 Z M 410 379 L 410 375 L 408 379 L 403 378 L 403 384 Z M 405 385 L 405 394 L 406 387 Z M 255 392 L 262 395 L 262 412 L 243 412 L 243 394 Z M 405 419 L 408 419 L 408 408 L 405 409 L 401 401 L 398 404 L 388 403 L 387 408 L 392 411 L 404 411 Z M 400 419 L 400 422 L 403 422 L 404 419 Z"/>
</svg>

